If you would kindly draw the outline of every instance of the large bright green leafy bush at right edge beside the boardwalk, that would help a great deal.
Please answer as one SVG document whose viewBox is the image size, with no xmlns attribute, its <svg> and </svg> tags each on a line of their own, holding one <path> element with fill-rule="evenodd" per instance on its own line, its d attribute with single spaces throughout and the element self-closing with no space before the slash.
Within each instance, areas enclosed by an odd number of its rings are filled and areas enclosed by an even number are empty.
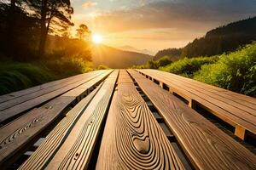
<svg viewBox="0 0 256 170">
<path fill-rule="evenodd" d="M 256 96 L 256 43 L 220 56 L 217 63 L 203 65 L 195 80 L 241 94 Z"/>
</svg>

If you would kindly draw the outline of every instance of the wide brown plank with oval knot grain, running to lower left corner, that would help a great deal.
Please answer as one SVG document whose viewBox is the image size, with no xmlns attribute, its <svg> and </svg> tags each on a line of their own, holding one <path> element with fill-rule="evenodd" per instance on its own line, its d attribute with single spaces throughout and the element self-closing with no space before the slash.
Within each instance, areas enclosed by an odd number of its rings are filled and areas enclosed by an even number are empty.
<svg viewBox="0 0 256 170">
<path fill-rule="evenodd" d="M 49 103 L 29 111 L 23 116 L 15 119 L 4 127 L 0 128 L 0 164 L 9 156 L 14 155 L 19 149 L 33 139 L 38 133 L 44 130 L 57 116 L 60 116 L 68 105 L 71 105 L 76 98 L 87 92 L 89 88 L 101 82 L 108 76 L 108 72 L 103 73 L 82 86 L 83 91 L 79 93 L 67 92 L 62 96 L 51 100 Z M 76 89 L 76 88 L 74 88 Z M 73 89 L 73 90 L 74 90 Z M 72 90 L 72 91 L 73 91 Z"/>
</svg>

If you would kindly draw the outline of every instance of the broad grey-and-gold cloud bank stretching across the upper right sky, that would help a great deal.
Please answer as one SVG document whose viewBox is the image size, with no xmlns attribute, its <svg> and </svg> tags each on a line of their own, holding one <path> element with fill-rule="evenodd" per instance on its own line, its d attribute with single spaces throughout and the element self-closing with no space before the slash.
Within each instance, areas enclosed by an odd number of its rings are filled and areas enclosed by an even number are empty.
<svg viewBox="0 0 256 170">
<path fill-rule="evenodd" d="M 108 11 L 98 15 L 95 22 L 108 31 L 152 28 L 205 30 L 256 15 L 254 7 L 256 1 L 250 0 L 161 1 L 139 8 Z"/>
</svg>

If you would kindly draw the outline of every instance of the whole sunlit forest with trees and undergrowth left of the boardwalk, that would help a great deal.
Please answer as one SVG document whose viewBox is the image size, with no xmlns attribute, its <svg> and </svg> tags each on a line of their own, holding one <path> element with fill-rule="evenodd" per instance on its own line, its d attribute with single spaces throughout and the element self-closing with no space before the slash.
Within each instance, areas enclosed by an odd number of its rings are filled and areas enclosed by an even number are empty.
<svg viewBox="0 0 256 170">
<path fill-rule="evenodd" d="M 71 38 L 72 14 L 69 0 L 0 1 L 0 94 L 92 70 L 90 30 Z"/>
</svg>

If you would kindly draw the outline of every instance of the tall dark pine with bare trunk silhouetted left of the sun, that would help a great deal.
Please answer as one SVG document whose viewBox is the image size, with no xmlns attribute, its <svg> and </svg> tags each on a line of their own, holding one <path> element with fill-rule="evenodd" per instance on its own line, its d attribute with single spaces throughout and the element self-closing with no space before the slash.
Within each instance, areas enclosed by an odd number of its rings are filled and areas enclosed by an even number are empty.
<svg viewBox="0 0 256 170">
<path fill-rule="evenodd" d="M 38 51 L 40 55 L 44 55 L 48 33 L 61 34 L 73 26 L 71 22 L 73 8 L 70 0 L 26 0 L 26 3 L 40 20 L 41 34 Z"/>
</svg>

